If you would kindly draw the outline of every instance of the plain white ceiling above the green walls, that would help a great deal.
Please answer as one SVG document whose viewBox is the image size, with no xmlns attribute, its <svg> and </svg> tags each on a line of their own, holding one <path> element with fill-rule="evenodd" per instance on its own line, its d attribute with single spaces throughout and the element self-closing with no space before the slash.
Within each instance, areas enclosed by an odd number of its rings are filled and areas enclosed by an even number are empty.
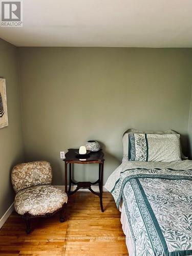
<svg viewBox="0 0 192 256">
<path fill-rule="evenodd" d="M 16 46 L 192 47 L 192 0 L 23 0 Z"/>
</svg>

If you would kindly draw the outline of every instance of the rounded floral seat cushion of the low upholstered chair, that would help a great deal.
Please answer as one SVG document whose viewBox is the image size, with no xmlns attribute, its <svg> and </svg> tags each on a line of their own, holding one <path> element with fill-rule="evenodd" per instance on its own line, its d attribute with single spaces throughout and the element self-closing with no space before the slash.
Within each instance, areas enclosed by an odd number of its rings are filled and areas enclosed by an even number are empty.
<svg viewBox="0 0 192 256">
<path fill-rule="evenodd" d="M 52 213 L 67 203 L 65 191 L 52 185 L 38 185 L 20 190 L 15 196 L 15 211 L 36 216 Z"/>
</svg>

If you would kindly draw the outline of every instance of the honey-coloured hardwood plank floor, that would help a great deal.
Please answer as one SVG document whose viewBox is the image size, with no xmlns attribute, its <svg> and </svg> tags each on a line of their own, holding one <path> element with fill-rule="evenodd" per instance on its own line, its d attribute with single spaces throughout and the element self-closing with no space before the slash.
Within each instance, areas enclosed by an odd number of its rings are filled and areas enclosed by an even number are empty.
<svg viewBox="0 0 192 256">
<path fill-rule="evenodd" d="M 92 193 L 77 192 L 69 198 L 65 222 L 59 222 L 58 214 L 33 219 L 29 235 L 13 213 L 0 230 L 0 255 L 129 255 L 110 193 L 103 193 L 103 207 L 102 213 Z"/>
</svg>

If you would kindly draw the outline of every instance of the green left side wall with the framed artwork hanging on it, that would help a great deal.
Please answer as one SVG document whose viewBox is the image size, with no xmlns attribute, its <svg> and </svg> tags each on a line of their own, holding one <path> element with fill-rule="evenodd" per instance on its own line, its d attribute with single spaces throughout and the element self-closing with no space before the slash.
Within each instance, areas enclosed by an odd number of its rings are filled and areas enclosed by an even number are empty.
<svg viewBox="0 0 192 256">
<path fill-rule="evenodd" d="M 14 200 L 11 168 L 23 159 L 17 49 L 0 39 L 0 77 L 6 78 L 9 125 L 0 129 L 0 219 Z"/>
</svg>

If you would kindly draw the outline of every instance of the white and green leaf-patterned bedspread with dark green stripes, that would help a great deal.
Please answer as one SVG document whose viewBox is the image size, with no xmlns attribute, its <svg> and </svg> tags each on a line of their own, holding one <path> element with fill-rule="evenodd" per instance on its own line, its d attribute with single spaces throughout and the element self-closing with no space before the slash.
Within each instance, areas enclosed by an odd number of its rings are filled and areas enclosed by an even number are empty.
<svg viewBox="0 0 192 256">
<path fill-rule="evenodd" d="M 192 170 L 126 169 L 111 193 L 125 206 L 135 255 L 192 255 Z"/>
</svg>

